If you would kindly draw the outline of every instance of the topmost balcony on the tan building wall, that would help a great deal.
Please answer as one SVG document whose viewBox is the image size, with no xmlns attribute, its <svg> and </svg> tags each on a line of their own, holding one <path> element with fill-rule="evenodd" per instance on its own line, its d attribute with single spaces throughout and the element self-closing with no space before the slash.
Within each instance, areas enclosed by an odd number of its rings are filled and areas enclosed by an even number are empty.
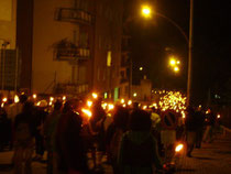
<svg viewBox="0 0 231 174">
<path fill-rule="evenodd" d="M 68 9 L 62 8 L 58 9 L 56 14 L 57 21 L 64 22 L 74 22 L 74 23 L 81 23 L 81 24 L 94 24 L 94 15 L 89 12 L 79 9 Z"/>
</svg>

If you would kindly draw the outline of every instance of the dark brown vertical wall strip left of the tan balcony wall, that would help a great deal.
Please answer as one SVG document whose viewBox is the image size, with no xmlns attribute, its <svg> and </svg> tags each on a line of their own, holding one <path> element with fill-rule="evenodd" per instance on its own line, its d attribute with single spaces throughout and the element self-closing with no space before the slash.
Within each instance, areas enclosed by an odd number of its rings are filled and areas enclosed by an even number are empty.
<svg viewBox="0 0 231 174">
<path fill-rule="evenodd" d="M 18 0 L 16 47 L 21 59 L 20 88 L 31 89 L 32 80 L 33 1 Z"/>
</svg>

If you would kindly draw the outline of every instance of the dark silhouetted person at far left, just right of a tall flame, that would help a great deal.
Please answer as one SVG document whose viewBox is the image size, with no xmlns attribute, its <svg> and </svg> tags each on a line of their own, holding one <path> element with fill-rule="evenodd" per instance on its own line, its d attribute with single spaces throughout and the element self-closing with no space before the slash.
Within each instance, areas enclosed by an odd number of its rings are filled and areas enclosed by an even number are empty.
<svg viewBox="0 0 231 174">
<path fill-rule="evenodd" d="M 34 107 L 25 102 L 22 112 L 16 115 L 14 122 L 14 174 L 32 174 L 32 154 L 34 150 Z M 24 163 L 24 165 L 23 165 Z"/>
</svg>

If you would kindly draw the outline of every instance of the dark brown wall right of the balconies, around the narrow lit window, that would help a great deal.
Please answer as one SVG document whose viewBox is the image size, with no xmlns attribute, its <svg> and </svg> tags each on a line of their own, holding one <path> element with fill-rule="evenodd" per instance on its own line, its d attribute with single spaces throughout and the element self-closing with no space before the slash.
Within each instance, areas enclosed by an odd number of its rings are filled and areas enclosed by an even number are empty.
<svg viewBox="0 0 231 174">
<path fill-rule="evenodd" d="M 97 3 L 94 87 L 100 93 L 113 91 L 120 83 L 122 2 L 99 0 Z M 111 66 L 107 65 L 109 52 Z"/>
</svg>

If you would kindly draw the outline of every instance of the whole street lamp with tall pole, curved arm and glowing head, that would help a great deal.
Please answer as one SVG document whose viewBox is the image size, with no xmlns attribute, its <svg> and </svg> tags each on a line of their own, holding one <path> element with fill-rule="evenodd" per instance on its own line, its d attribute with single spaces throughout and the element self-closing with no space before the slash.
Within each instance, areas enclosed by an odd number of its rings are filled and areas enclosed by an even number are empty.
<svg viewBox="0 0 231 174">
<path fill-rule="evenodd" d="M 152 14 L 152 9 L 148 6 L 142 7 L 142 14 L 150 19 Z M 178 31 L 182 33 L 182 35 L 185 37 L 187 45 L 188 45 L 188 78 L 187 78 L 187 106 L 191 105 L 191 59 L 193 59 L 193 29 L 194 29 L 194 0 L 190 0 L 190 19 L 189 19 L 189 37 L 185 33 L 185 31 L 172 19 L 167 18 L 164 14 L 155 12 L 157 17 L 161 17 L 165 20 L 167 20 L 169 23 L 172 23 L 174 26 L 178 29 Z M 179 69 L 174 69 L 175 72 L 178 72 Z"/>
</svg>

